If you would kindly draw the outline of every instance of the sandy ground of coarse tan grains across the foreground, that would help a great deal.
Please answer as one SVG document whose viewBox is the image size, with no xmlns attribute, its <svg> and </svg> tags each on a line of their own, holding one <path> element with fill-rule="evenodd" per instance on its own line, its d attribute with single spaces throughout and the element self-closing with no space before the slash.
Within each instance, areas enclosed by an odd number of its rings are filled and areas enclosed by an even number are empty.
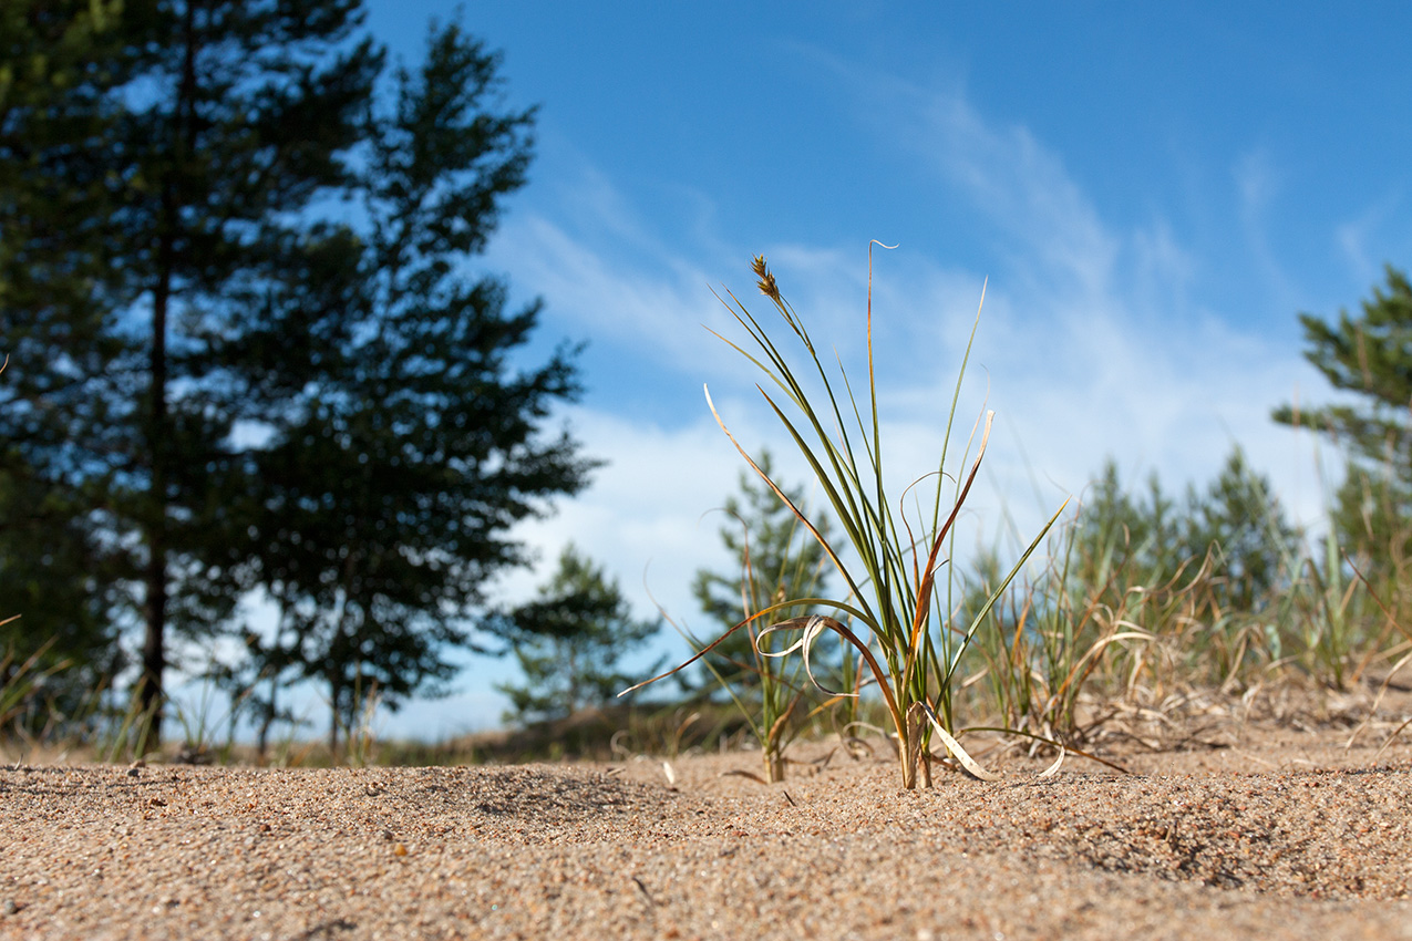
<svg viewBox="0 0 1412 941">
<path fill-rule="evenodd" d="M 1384 722 L 1387 725 L 1387 722 Z M 1412 729 L 1409 729 L 1412 731 Z M 1412 748 L 1347 727 L 449 769 L 0 769 L 4 938 L 1412 938 Z M 1149 745 L 1162 745 L 1151 742 Z M 1110 752 L 1115 753 L 1115 752 Z"/>
</svg>

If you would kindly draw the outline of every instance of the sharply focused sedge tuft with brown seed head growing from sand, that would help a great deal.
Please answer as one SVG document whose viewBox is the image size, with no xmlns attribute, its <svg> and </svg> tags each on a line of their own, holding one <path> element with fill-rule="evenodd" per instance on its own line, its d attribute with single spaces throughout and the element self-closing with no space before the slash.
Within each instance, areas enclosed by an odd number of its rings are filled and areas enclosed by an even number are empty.
<svg viewBox="0 0 1412 941">
<path fill-rule="evenodd" d="M 729 302 L 722 298 L 734 319 L 746 329 L 750 343 L 743 346 L 726 337 L 720 339 L 754 363 L 770 381 L 770 388 L 765 384 L 757 385 L 757 388 L 818 478 L 819 490 L 832 511 L 830 515 L 840 525 L 843 539 L 851 550 L 847 553 L 850 561 L 844 561 L 843 542 L 825 535 L 810 515 L 791 501 L 771 475 L 740 446 L 716 411 L 710 391 L 706 391 L 707 405 L 722 430 L 730 437 L 751 470 L 779 499 L 789 505 L 791 512 L 805 530 L 823 549 L 847 591 L 843 598 L 786 598 L 772 604 L 727 631 L 713 645 L 676 670 L 705 656 L 734 631 L 762 624 L 764 626 L 757 633 L 757 643 L 774 632 L 799 635 L 798 641 L 781 653 L 799 650 L 805 670 L 812 679 L 810 649 L 823 632 L 832 631 L 857 652 L 871 681 L 880 690 L 898 743 L 904 789 L 914 790 L 919 784 L 931 784 L 929 742 L 933 731 L 967 770 L 979 777 L 993 779 L 993 775 L 966 753 L 953 734 L 952 694 L 957 680 L 959 662 L 976 631 L 984 624 L 988 605 L 1019 573 L 1063 508 L 1049 519 L 1001 584 L 995 585 L 987 605 L 974 614 L 970 624 L 953 624 L 947 608 L 949 584 L 947 590 L 939 590 L 938 574 L 949 561 L 946 553 L 949 538 L 953 535 L 956 519 L 980 470 L 994 419 L 994 412 L 987 411 L 977 420 L 971 435 L 971 440 L 974 440 L 974 435 L 980 433 L 974 461 L 964 477 L 955 478 L 956 488 L 947 494 L 947 444 L 960 398 L 962 378 L 964 378 L 966 358 L 970 356 L 970 344 L 974 341 L 980 313 L 977 312 L 976 324 L 971 327 L 956 391 L 945 416 L 946 432 L 942 439 L 939 461 L 933 470 L 915 480 L 899 494 L 898 502 L 894 502 L 885 482 L 882 422 L 878 412 L 877 372 L 873 357 L 871 244 L 868 253 L 866 323 L 868 375 L 867 394 L 861 402 L 849 382 L 842 361 L 839 363 L 839 378 L 830 378 L 830 371 L 820 358 L 819 347 L 805 327 L 803 319 L 781 295 L 764 257 L 754 260 L 753 269 L 758 278 L 760 292 L 770 299 L 775 313 L 784 320 L 782 332 L 786 340 L 791 340 L 791 348 L 786 350 L 777 344 L 772 332 L 767 330 L 733 293 L 727 292 Z M 799 368 L 795 365 L 796 360 L 801 363 Z M 808 391 L 806 382 L 815 389 L 822 388 L 822 392 Z M 935 484 L 935 487 L 931 492 L 925 492 L 923 484 Z M 908 501 L 912 502 L 911 511 L 907 509 Z M 847 618 L 847 624 L 839 618 L 818 614 L 775 619 L 801 605 L 836 609 Z M 662 676 L 671 676 L 676 670 Z M 647 683 L 662 679 L 662 676 Z M 638 686 L 645 686 L 645 683 Z M 627 691 L 631 690 L 624 693 Z M 856 691 L 847 690 L 825 690 L 825 693 L 829 696 L 857 696 Z"/>
</svg>

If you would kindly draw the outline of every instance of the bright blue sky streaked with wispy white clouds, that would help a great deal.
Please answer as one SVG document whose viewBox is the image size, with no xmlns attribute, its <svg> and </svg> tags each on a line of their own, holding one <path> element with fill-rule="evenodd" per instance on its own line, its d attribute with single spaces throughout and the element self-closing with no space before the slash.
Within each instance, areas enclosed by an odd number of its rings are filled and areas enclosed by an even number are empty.
<svg viewBox="0 0 1412 941">
<path fill-rule="evenodd" d="M 414 63 L 438 0 L 370 0 Z M 477 269 L 544 296 L 539 343 L 589 341 L 587 394 L 563 409 L 611 463 L 525 526 L 538 573 L 573 540 L 705 628 L 688 583 L 726 567 L 706 518 L 743 467 L 702 385 L 802 481 L 705 329 L 712 288 L 753 309 L 765 254 L 816 339 L 860 363 L 868 241 L 894 463 L 931 470 L 966 332 L 988 278 L 962 411 L 997 411 L 969 518 L 994 542 L 1080 494 L 1108 456 L 1169 491 L 1233 443 L 1315 523 L 1315 444 L 1268 420 L 1330 394 L 1296 312 L 1356 308 L 1382 264 L 1412 264 L 1412 7 L 1361 3 L 515 3 L 463 7 L 504 52 L 507 103 L 541 104 L 538 158 Z M 762 300 L 762 299 L 760 299 Z M 988 398 L 987 398 L 988 396 Z M 1336 464 L 1336 461 L 1326 461 Z M 901 482 L 905 485 L 907 480 Z M 682 649 L 672 645 L 674 650 Z M 494 724 L 473 660 L 450 700 L 387 735 Z"/>
</svg>

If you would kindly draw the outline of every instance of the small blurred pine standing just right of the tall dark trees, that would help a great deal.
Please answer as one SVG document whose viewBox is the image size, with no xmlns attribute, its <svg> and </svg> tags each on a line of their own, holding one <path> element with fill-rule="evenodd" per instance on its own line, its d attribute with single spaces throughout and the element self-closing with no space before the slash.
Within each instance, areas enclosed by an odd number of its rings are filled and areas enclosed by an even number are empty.
<svg viewBox="0 0 1412 941">
<path fill-rule="evenodd" d="M 534 601 L 500 612 L 487 626 L 508 642 L 525 674 L 524 686 L 496 684 L 514 703 L 505 718 L 521 722 L 611 703 L 633 681 L 618 660 L 661 628 L 634 619 L 617 580 L 572 545 Z"/>
</svg>

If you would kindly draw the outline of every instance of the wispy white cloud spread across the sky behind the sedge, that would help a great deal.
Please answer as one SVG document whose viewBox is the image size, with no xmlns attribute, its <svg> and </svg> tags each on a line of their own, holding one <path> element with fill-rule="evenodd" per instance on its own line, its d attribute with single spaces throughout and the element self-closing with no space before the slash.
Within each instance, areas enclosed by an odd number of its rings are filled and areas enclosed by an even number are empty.
<svg viewBox="0 0 1412 941">
<path fill-rule="evenodd" d="M 1024 127 L 988 123 L 959 93 L 890 78 L 857 79 L 850 75 L 844 85 L 864 89 L 860 103 L 868 110 L 861 123 L 891 135 L 887 144 L 923 155 L 932 172 L 1001 233 L 1004 265 L 987 291 L 947 463 L 950 473 L 964 470 L 960 459 L 971 423 L 983 406 L 994 408 L 987 473 L 967 521 L 971 539 L 994 539 L 1003 514 L 1014 516 L 1027 538 L 1066 495 L 1080 492 L 1108 456 L 1127 481 L 1137 484 L 1156 470 L 1166 488 L 1179 492 L 1189 481 L 1210 480 L 1233 443 L 1271 475 L 1300 521 L 1317 522 L 1313 446 L 1268 415 L 1295 395 L 1296 382 L 1305 389 L 1320 382 L 1284 344 L 1243 332 L 1233 317 L 1190 299 L 1202 264 L 1195 247 L 1182 244 L 1162 217 L 1137 230 L 1107 224 L 1059 155 Z M 897 128 L 907 128 L 905 140 Z M 724 344 L 702 343 L 702 323 L 741 336 L 709 285 L 724 281 L 753 310 L 758 302 L 757 313 L 768 313 L 753 278 L 737 267 L 747 253 L 702 255 L 658 243 L 630 200 L 607 178 L 594 179 L 589 205 L 602 209 L 602 224 L 585 221 L 583 206 L 569 210 L 578 213 L 575 220 L 528 216 L 507 226 L 496 261 L 515 284 L 542 292 L 558 316 L 592 339 L 620 344 L 624 371 L 650 364 L 710 375 L 738 440 L 753 451 L 768 444 L 785 478 L 802 481 L 802 461 L 751 388 L 758 374 Z M 1258 241 L 1278 181 L 1258 152 L 1238 168 L 1238 181 L 1247 234 Z M 791 236 L 781 233 L 767 253 L 771 265 L 822 353 L 837 348 L 854 392 L 866 395 L 866 247 Z M 1348 240 L 1351 250 L 1351 230 Z M 1265 274 L 1278 279 L 1278 260 L 1268 244 L 1265 250 Z M 722 261 L 726 255 L 736 261 Z M 905 247 L 880 253 L 875 262 L 874 343 L 895 499 L 908 482 L 935 470 L 983 278 Z M 507 600 L 528 595 L 559 549 L 575 542 L 621 581 L 640 615 L 652 612 L 645 573 L 651 594 L 696 626 L 693 573 L 730 564 L 719 546 L 719 521 L 703 514 L 734 492 L 744 463 L 705 403 L 668 423 L 626 413 L 603 402 L 563 412 L 586 453 L 611 464 L 586 494 L 521 528 L 541 549 L 541 566 L 505 578 L 498 591 Z"/>
</svg>

